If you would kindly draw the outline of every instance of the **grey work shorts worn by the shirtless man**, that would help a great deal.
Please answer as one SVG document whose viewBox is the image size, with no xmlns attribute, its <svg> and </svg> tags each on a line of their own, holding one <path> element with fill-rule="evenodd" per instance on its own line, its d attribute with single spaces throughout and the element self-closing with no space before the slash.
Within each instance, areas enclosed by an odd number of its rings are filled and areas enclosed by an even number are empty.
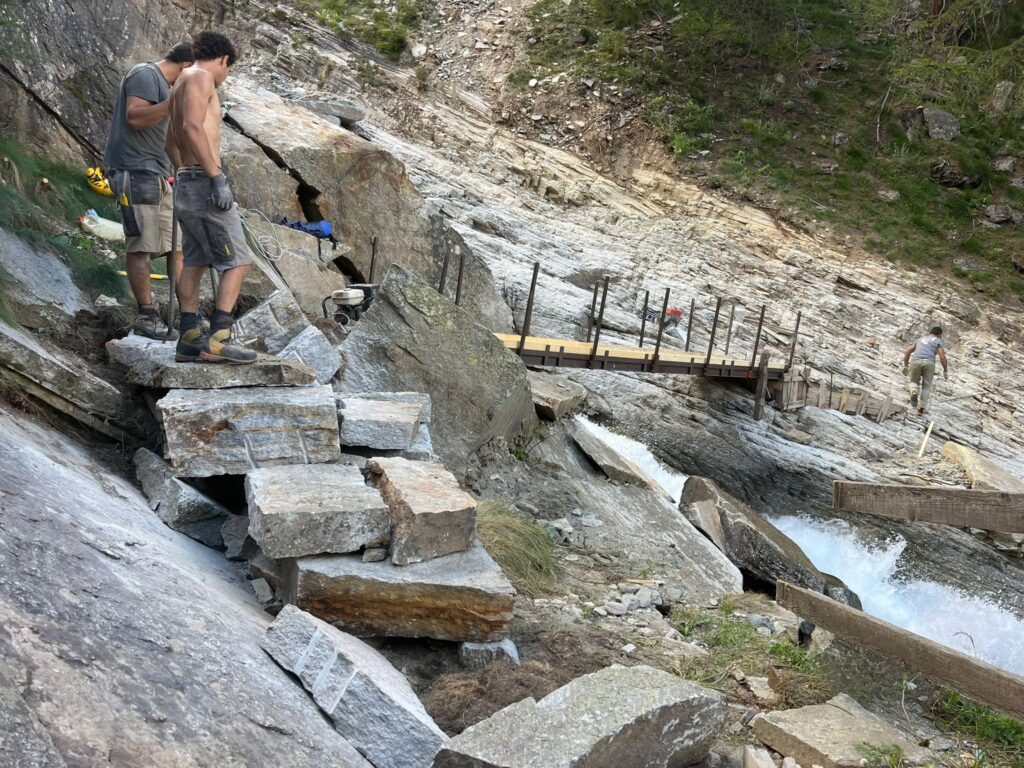
<svg viewBox="0 0 1024 768">
<path fill-rule="evenodd" d="M 224 211 L 210 202 L 209 176 L 180 169 L 174 182 L 175 210 L 181 224 L 185 266 L 212 266 L 218 272 L 253 263 L 242 231 L 238 204 Z"/>
</svg>

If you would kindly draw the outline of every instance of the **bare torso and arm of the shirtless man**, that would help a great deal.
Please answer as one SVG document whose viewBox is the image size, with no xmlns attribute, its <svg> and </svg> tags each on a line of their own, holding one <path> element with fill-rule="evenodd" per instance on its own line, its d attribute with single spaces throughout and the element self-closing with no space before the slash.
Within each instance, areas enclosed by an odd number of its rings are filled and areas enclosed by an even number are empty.
<svg viewBox="0 0 1024 768">
<path fill-rule="evenodd" d="M 201 67 L 181 73 L 171 90 L 170 140 L 182 166 L 220 172 L 220 98 L 213 76 Z"/>
</svg>

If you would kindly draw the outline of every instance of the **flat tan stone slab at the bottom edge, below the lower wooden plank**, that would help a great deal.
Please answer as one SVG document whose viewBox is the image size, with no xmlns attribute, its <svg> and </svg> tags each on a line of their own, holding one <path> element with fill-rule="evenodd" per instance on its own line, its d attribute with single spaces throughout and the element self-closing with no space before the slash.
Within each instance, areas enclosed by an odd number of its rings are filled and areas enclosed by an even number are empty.
<svg viewBox="0 0 1024 768">
<path fill-rule="evenodd" d="M 845 693 L 823 705 L 758 715 L 751 727 L 771 749 L 801 765 L 858 768 L 865 744 L 881 750 L 898 746 L 906 766 L 929 765 L 935 759 L 931 751 Z"/>
</svg>

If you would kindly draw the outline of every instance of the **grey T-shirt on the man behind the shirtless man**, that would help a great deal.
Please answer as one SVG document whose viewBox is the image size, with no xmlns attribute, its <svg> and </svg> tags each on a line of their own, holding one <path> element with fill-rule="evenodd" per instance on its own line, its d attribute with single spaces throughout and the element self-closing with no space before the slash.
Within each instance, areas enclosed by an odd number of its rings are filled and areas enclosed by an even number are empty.
<svg viewBox="0 0 1024 768">
<path fill-rule="evenodd" d="M 162 176 L 171 175 L 171 161 L 167 157 L 167 118 L 152 128 L 136 130 L 128 125 L 128 98 L 138 96 L 153 104 L 166 101 L 171 95 L 160 68 L 147 61 L 136 65 L 125 75 L 114 104 L 111 132 L 103 151 L 103 166 L 110 171 L 152 171 Z"/>
</svg>

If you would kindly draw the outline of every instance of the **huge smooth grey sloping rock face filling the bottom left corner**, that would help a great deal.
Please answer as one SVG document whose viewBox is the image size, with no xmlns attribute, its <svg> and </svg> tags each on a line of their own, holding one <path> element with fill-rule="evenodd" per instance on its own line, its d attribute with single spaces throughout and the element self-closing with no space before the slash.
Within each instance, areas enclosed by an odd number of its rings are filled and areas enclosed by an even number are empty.
<svg viewBox="0 0 1024 768">
<path fill-rule="evenodd" d="M 90 447 L 0 414 L 0 765 L 370 768 L 260 648 L 234 566 Z"/>
</svg>

